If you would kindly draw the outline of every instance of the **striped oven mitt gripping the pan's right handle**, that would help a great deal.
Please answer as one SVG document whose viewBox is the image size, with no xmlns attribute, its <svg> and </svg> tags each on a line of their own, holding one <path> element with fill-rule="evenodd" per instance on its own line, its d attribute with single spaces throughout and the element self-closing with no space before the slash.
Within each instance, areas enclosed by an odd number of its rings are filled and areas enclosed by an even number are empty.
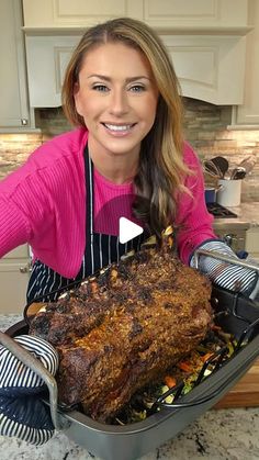
<svg viewBox="0 0 259 460">
<path fill-rule="evenodd" d="M 222 240 L 207 240 L 200 245 L 199 249 L 214 250 L 238 260 L 233 249 Z M 194 267 L 194 256 L 191 257 L 190 266 Z M 209 256 L 199 256 L 199 270 L 221 288 L 240 292 L 247 296 L 254 298 L 255 290 L 258 289 L 258 272 L 245 267 L 227 263 Z"/>
</svg>

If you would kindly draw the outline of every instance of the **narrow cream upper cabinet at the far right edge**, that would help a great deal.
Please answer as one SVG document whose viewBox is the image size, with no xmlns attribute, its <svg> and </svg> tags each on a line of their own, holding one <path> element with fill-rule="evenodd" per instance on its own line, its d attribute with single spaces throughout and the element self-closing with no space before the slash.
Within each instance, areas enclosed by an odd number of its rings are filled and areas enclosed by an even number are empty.
<svg viewBox="0 0 259 460">
<path fill-rule="evenodd" d="M 244 103 L 233 108 L 232 127 L 259 128 L 259 1 L 249 2 Z"/>
</svg>

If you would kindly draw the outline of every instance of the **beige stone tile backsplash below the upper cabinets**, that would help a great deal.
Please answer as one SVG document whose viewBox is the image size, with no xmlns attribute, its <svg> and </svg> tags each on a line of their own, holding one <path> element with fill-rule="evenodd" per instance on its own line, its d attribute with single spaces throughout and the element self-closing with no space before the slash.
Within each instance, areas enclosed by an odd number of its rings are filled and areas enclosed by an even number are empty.
<svg viewBox="0 0 259 460">
<path fill-rule="evenodd" d="M 229 131 L 230 108 L 184 98 L 185 138 L 202 159 L 216 155 L 230 166 L 249 155 L 257 157 L 254 170 L 243 180 L 241 201 L 259 201 L 259 131 Z M 36 126 L 41 133 L 0 134 L 0 179 L 22 165 L 31 152 L 46 139 L 71 127 L 63 110 L 36 110 Z"/>
</svg>

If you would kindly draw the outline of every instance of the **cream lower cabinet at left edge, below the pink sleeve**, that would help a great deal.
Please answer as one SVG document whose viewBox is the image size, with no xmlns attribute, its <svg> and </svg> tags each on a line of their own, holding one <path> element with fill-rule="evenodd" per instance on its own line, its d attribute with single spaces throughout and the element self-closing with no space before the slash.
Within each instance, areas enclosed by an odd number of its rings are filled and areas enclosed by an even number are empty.
<svg viewBox="0 0 259 460">
<path fill-rule="evenodd" d="M 27 245 L 19 246 L 0 259 L 0 314 L 23 313 L 30 261 Z"/>
</svg>

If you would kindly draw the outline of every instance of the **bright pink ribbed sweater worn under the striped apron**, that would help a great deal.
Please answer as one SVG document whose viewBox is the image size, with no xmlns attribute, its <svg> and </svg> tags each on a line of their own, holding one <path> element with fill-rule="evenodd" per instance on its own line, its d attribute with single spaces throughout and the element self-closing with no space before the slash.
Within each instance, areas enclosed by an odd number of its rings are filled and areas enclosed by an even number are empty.
<svg viewBox="0 0 259 460">
<path fill-rule="evenodd" d="M 29 243 L 34 256 L 55 271 L 74 278 L 86 247 L 86 183 L 83 149 L 88 132 L 65 133 L 37 148 L 26 164 L 0 182 L 0 257 Z M 184 161 L 196 171 L 185 186 L 193 199 L 179 199 L 176 224 L 178 250 L 188 262 L 193 249 L 214 238 L 213 217 L 204 203 L 203 176 L 199 160 L 187 144 Z M 94 218 L 110 200 L 133 193 L 132 184 L 117 186 L 94 171 Z M 114 210 L 133 218 L 131 206 Z M 95 220 L 94 231 L 117 235 L 116 220 Z"/>
</svg>

